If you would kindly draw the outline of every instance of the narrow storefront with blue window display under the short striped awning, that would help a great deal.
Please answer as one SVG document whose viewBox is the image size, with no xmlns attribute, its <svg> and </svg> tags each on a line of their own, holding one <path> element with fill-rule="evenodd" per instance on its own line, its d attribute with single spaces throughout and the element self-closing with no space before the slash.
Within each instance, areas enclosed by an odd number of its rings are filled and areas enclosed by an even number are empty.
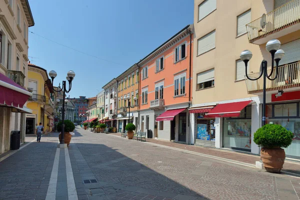
<svg viewBox="0 0 300 200">
<path fill-rule="evenodd" d="M 194 113 L 194 144 L 215 146 L 215 118 L 205 117 L 205 114 L 213 108 L 212 106 L 191 107 L 189 113 Z"/>
</svg>

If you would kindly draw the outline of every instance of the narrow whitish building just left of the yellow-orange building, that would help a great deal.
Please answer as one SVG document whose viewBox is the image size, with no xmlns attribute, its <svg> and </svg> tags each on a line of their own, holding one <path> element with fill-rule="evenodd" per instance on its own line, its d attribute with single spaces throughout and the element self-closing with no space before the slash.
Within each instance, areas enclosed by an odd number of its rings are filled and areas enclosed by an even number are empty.
<svg viewBox="0 0 300 200">
<path fill-rule="evenodd" d="M 109 127 L 116 128 L 116 102 L 117 102 L 117 80 L 113 78 L 107 82 L 102 89 L 104 89 L 104 119 Z"/>
</svg>

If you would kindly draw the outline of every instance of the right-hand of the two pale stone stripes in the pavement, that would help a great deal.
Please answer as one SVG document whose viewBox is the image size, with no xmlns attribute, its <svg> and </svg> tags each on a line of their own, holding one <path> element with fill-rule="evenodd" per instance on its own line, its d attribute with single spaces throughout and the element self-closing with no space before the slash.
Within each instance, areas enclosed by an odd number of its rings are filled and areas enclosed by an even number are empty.
<svg viewBox="0 0 300 200">
<path fill-rule="evenodd" d="M 67 182 L 67 197 L 69 200 L 78 200 L 70 156 L 68 154 L 67 148 L 64 149 L 64 157 L 65 157 L 65 171 L 66 171 L 66 182 Z"/>
</svg>

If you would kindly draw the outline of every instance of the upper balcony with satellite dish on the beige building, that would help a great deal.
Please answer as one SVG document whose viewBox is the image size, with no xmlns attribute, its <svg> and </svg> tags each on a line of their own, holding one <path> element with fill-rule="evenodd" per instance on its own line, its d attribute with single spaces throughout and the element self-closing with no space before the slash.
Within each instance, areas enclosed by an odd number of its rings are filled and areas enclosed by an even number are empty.
<svg viewBox="0 0 300 200">
<path fill-rule="evenodd" d="M 263 44 L 300 29 L 300 0 L 288 3 L 246 24 L 250 43 Z"/>
</svg>

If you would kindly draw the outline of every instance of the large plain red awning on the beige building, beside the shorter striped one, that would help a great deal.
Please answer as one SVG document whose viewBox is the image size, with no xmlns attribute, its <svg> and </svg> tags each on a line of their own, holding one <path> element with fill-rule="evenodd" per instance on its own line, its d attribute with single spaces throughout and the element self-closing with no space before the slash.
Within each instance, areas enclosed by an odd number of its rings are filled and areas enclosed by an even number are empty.
<svg viewBox="0 0 300 200">
<path fill-rule="evenodd" d="M 238 101 L 232 103 L 217 104 L 212 110 L 205 114 L 205 117 L 231 117 L 239 116 L 242 110 L 251 100 Z"/>
</svg>

